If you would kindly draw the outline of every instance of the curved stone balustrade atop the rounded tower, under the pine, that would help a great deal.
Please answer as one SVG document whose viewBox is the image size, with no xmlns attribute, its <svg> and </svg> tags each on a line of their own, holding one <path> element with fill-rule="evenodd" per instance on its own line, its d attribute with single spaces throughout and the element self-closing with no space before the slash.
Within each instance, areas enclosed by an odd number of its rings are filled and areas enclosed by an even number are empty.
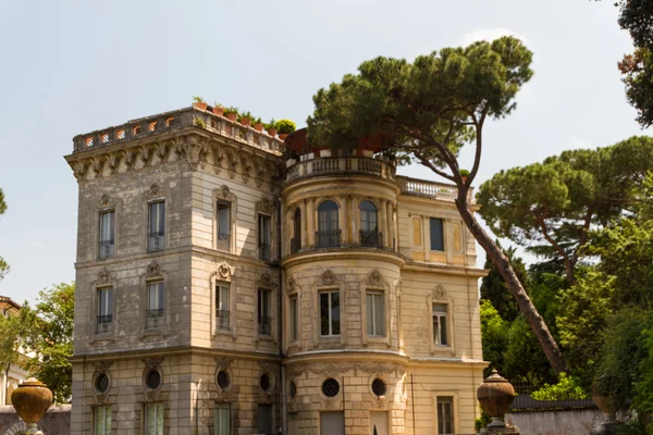
<svg viewBox="0 0 653 435">
<path fill-rule="evenodd" d="M 393 179 L 395 165 L 381 158 L 365 157 L 323 157 L 292 163 L 286 172 L 286 182 L 297 178 L 335 174 L 375 175 Z"/>
</svg>

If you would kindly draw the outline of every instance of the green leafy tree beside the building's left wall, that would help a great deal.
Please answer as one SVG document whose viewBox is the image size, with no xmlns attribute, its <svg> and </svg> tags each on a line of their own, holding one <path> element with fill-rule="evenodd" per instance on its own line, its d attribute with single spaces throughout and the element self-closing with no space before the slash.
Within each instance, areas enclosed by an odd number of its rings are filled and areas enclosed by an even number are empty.
<svg viewBox="0 0 653 435">
<path fill-rule="evenodd" d="M 56 402 L 64 402 L 72 394 L 75 285 L 54 285 L 40 291 L 39 299 L 35 309 L 23 306 L 20 315 L 22 346 L 36 353 L 26 365 L 52 390 Z"/>
</svg>

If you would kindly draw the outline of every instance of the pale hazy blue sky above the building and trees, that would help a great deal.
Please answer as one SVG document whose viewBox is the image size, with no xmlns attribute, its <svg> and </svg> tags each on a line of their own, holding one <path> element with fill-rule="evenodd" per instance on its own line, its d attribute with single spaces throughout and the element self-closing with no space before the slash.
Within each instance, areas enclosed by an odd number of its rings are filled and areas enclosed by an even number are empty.
<svg viewBox="0 0 653 435">
<path fill-rule="evenodd" d="M 77 185 L 63 160 L 72 137 L 194 95 L 304 125 L 315 91 L 366 59 L 509 33 L 533 50 L 535 75 L 517 111 L 486 127 L 477 184 L 643 134 L 616 69 L 631 46 L 612 3 L 0 0 L 0 254 L 12 266 L 0 294 L 34 300 L 74 279 Z"/>
</svg>

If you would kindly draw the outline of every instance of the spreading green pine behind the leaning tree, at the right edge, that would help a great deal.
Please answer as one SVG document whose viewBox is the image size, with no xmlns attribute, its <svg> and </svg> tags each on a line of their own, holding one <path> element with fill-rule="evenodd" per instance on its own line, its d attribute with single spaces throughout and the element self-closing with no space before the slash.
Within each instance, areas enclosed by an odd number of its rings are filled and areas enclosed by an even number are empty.
<svg viewBox="0 0 653 435">
<path fill-rule="evenodd" d="M 637 210 L 651 162 L 649 137 L 565 151 L 543 163 L 501 171 L 483 183 L 480 213 L 495 234 L 551 261 L 575 284 L 591 228 Z"/>
</svg>

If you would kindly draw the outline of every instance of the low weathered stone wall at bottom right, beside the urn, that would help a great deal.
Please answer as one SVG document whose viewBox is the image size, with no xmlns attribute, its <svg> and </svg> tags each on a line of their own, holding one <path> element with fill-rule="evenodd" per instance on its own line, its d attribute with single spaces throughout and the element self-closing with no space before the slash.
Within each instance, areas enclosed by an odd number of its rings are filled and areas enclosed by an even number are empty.
<svg viewBox="0 0 653 435">
<path fill-rule="evenodd" d="M 519 427 L 521 435 L 589 434 L 595 422 L 605 417 L 597 409 L 567 411 L 510 412 L 506 422 Z"/>
</svg>

